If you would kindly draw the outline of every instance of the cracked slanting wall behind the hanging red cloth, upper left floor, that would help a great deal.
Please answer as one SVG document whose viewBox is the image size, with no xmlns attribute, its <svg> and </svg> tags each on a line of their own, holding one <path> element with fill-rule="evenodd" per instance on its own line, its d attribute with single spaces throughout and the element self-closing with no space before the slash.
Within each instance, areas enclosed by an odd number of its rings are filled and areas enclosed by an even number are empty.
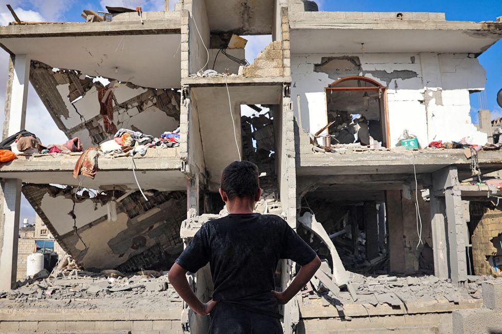
<svg viewBox="0 0 502 334">
<path fill-rule="evenodd" d="M 58 128 L 70 138 L 79 137 L 84 147 L 99 145 L 111 137 L 104 131 L 99 113 L 101 87 L 113 87 L 113 123 L 118 129 L 158 136 L 180 124 L 180 93 L 174 89 L 150 89 L 89 77 L 35 61 L 31 64 L 30 81 Z"/>
</svg>

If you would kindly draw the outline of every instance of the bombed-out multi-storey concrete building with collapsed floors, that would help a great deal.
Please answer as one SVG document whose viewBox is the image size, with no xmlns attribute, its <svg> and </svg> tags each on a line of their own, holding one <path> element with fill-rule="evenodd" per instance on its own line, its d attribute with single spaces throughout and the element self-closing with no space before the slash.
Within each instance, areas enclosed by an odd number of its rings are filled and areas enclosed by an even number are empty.
<svg viewBox="0 0 502 334">
<path fill-rule="evenodd" d="M 149 290 L 130 273 L 165 275 L 198 228 L 226 214 L 220 173 L 239 159 L 262 172 L 257 212 L 282 216 L 324 260 L 284 306 L 286 333 L 451 333 L 454 310 L 482 306 L 480 287 L 502 264 L 502 180 L 488 176 L 502 154 L 487 145 L 491 125 L 472 124 L 469 96 L 484 90 L 477 57 L 502 23 L 306 9 L 181 0 L 174 11 L 0 28 L 11 55 L 4 139 L 24 129 L 30 82 L 68 139 L 101 147 L 93 178 L 76 168 L 81 152 L 20 152 L 0 166 L 0 290 L 24 285 L 0 295 L 0 331 L 205 332 L 208 319 L 164 276 Z M 272 43 L 249 64 L 236 35 Z M 111 145 L 121 128 L 152 145 Z M 152 141 L 166 132 L 176 145 Z M 80 274 L 15 281 L 21 191 Z M 111 269 L 128 277 L 98 274 Z M 277 288 L 296 271 L 281 261 Z M 191 284 L 208 298 L 209 268 Z M 160 296 L 142 294 L 157 285 Z M 158 298 L 168 312 L 140 310 Z"/>
</svg>

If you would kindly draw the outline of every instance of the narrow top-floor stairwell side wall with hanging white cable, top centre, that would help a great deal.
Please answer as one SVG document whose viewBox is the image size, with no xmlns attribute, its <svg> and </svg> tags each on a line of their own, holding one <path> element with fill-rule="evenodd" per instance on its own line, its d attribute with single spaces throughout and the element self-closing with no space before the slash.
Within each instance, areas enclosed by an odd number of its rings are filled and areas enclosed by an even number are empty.
<svg viewBox="0 0 502 334">
<path fill-rule="evenodd" d="M 182 44 L 181 50 L 189 47 L 189 74 L 204 71 L 209 62 L 206 48 L 210 47 L 209 20 L 205 0 L 184 0 L 184 9 L 190 13 L 188 19 L 188 44 Z M 182 19 L 183 21 L 183 19 Z M 183 31 L 182 31 L 183 33 Z"/>
</svg>

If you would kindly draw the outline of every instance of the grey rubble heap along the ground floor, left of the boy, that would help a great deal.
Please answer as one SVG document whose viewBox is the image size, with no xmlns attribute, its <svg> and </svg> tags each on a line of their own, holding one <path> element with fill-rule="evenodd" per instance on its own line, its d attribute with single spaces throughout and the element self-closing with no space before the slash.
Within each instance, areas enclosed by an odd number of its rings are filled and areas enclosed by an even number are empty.
<svg viewBox="0 0 502 334">
<path fill-rule="evenodd" d="M 93 308 L 92 302 L 99 300 L 120 300 L 124 307 L 134 307 L 143 299 L 181 303 L 181 298 L 169 285 L 168 273 L 154 270 L 132 274 L 116 270 L 94 273 L 67 269 L 49 275 L 44 269 L 24 282 L 19 281 L 17 289 L 0 291 L 0 300 L 12 300 L 16 307 L 49 307 L 48 301 L 64 301 L 65 307 L 70 308 Z"/>
</svg>

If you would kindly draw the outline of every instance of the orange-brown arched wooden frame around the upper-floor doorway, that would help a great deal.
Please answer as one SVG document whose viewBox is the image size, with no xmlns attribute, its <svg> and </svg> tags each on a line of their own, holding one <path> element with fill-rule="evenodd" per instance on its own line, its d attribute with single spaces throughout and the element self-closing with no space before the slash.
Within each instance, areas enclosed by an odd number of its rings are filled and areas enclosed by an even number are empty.
<svg viewBox="0 0 502 334">
<path fill-rule="evenodd" d="M 357 81 L 365 81 L 368 83 L 371 83 L 374 86 L 369 86 L 369 87 L 337 87 L 342 82 L 345 81 L 350 81 L 350 80 L 357 80 Z M 338 79 L 331 83 L 328 87 L 326 87 L 326 113 L 328 113 L 328 92 L 350 92 L 350 91 L 376 91 L 376 92 L 381 92 L 382 93 L 382 104 L 383 104 L 383 110 L 381 111 L 380 114 L 380 122 L 381 122 L 381 127 L 382 131 L 385 133 L 385 137 L 382 138 L 382 146 L 386 148 L 390 148 L 390 129 L 389 129 L 389 108 L 388 108 L 388 101 L 387 101 L 387 87 L 382 85 L 380 82 L 373 80 L 371 78 L 367 77 L 360 77 L 360 76 L 348 76 L 344 77 L 341 79 Z M 384 141 L 385 139 L 385 141 Z"/>
</svg>

